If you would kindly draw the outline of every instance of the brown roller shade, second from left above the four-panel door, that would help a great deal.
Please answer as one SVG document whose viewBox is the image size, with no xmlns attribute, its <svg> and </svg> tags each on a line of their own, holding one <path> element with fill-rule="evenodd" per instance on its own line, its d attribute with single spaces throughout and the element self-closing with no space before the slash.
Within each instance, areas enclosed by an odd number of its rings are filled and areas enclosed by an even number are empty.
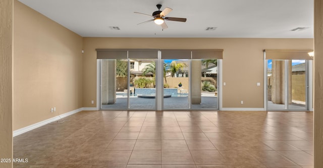
<svg viewBox="0 0 323 168">
<path fill-rule="evenodd" d="M 129 59 L 157 59 L 157 49 L 130 49 L 128 50 Z"/>
</svg>

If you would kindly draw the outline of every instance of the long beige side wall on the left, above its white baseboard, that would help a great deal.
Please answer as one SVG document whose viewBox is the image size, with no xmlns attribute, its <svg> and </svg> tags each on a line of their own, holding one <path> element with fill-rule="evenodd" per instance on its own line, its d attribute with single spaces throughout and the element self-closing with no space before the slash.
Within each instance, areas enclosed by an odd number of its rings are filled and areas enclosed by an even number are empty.
<svg viewBox="0 0 323 168">
<path fill-rule="evenodd" d="M 14 130 L 82 107 L 82 43 L 14 1 Z"/>
</svg>

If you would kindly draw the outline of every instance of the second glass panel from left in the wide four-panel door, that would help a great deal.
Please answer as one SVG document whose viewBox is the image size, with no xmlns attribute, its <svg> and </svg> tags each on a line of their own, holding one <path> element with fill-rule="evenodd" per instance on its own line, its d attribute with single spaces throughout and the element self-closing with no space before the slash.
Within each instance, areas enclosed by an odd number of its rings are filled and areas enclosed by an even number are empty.
<svg viewBox="0 0 323 168">
<path fill-rule="evenodd" d="M 131 59 L 129 108 L 156 109 L 156 60 Z"/>
</svg>

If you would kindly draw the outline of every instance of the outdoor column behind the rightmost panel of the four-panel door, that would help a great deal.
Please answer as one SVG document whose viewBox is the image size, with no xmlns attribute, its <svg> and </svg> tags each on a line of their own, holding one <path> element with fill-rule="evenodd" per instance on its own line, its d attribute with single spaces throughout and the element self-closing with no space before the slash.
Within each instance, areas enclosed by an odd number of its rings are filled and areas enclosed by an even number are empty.
<svg viewBox="0 0 323 168">
<path fill-rule="evenodd" d="M 201 60 L 191 61 L 191 102 L 192 104 L 201 103 Z"/>
</svg>

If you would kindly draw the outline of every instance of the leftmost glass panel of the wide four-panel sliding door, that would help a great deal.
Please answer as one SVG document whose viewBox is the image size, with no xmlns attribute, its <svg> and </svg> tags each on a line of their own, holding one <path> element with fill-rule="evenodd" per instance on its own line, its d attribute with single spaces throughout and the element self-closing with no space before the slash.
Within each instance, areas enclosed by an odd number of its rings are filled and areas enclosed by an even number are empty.
<svg viewBox="0 0 323 168">
<path fill-rule="evenodd" d="M 128 108 L 128 60 L 100 61 L 101 109 Z"/>
</svg>

